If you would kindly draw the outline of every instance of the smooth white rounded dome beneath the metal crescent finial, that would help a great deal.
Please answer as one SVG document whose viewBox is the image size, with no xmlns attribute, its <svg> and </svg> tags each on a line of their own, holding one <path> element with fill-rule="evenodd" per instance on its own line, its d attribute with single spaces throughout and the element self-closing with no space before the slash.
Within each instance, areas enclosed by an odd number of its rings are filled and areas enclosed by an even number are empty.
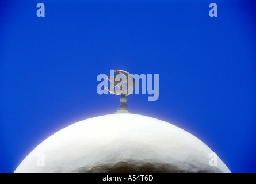
<svg viewBox="0 0 256 184">
<path fill-rule="evenodd" d="M 209 165 L 212 152 L 197 137 L 165 121 L 110 114 L 56 132 L 15 172 L 230 172 L 219 158 L 217 166 Z"/>
</svg>

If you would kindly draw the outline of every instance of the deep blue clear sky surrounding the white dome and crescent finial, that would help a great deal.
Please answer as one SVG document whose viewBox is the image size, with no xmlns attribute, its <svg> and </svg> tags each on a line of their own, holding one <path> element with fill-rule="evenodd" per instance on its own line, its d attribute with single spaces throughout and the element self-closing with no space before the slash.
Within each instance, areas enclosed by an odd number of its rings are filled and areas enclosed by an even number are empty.
<svg viewBox="0 0 256 184">
<path fill-rule="evenodd" d="M 43 2 L 45 17 L 36 16 Z M 218 17 L 209 17 L 209 4 Z M 0 171 L 48 136 L 114 113 L 98 74 L 159 74 L 132 113 L 172 122 L 255 172 L 256 1 L 0 1 Z"/>
</svg>

